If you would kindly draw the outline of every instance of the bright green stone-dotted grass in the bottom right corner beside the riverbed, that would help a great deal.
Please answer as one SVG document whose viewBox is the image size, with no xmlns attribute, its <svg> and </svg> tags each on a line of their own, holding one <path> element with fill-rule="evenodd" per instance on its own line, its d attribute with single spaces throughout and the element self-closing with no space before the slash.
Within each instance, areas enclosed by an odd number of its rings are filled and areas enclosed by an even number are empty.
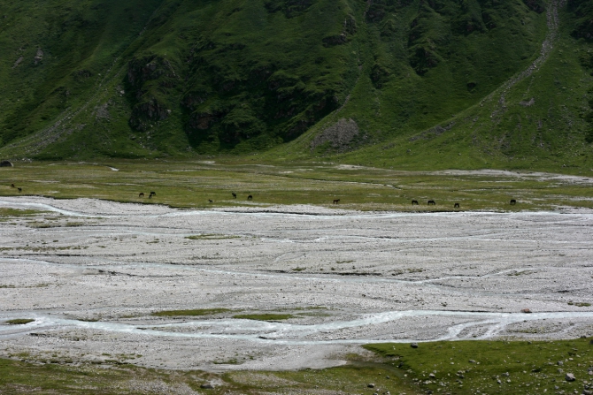
<svg viewBox="0 0 593 395">
<path fill-rule="evenodd" d="M 581 389 L 566 373 L 586 380 L 593 363 L 589 339 L 559 341 L 459 341 L 367 345 L 408 375 L 422 393 L 557 393 Z M 558 367 L 557 362 L 563 361 Z M 558 368 L 561 368 L 558 370 Z M 430 375 L 434 376 L 430 376 Z"/>
</svg>

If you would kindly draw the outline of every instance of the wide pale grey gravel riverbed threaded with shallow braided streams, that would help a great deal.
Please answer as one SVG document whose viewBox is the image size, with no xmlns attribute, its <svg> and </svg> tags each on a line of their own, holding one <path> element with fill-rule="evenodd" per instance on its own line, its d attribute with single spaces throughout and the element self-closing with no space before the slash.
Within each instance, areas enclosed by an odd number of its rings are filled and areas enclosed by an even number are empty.
<svg viewBox="0 0 593 395">
<path fill-rule="evenodd" d="M 0 323 L 35 318 L 0 324 L 4 356 L 322 368 L 374 341 L 593 334 L 582 306 L 593 304 L 591 211 L 190 211 L 38 197 L 0 207 L 47 210 L 0 223 Z M 196 308 L 241 313 L 150 316 Z M 295 317 L 232 317 L 250 313 Z"/>
</svg>

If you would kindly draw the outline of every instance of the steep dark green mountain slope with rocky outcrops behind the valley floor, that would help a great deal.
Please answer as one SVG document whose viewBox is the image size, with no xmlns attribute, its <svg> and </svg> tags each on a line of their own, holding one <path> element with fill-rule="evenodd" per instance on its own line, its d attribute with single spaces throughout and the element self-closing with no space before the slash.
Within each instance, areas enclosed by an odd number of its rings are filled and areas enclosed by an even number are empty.
<svg viewBox="0 0 593 395">
<path fill-rule="evenodd" d="M 21 3 L 0 156 L 593 165 L 587 0 Z"/>
</svg>

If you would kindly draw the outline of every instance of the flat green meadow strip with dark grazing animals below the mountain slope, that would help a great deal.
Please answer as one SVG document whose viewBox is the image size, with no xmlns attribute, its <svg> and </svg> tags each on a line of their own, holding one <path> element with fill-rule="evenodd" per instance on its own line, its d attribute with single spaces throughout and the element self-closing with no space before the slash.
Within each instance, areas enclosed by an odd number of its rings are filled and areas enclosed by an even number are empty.
<svg viewBox="0 0 593 395">
<path fill-rule="evenodd" d="M 268 162 L 261 166 L 247 158 L 218 158 L 216 163 L 199 161 L 113 163 L 119 171 L 84 163 L 20 163 L 12 169 L 19 179 L 30 183 L 31 194 L 47 195 L 51 184 L 34 180 L 58 180 L 55 198 L 91 198 L 138 202 L 139 186 L 156 190 L 158 200 L 150 202 L 181 209 L 210 207 L 202 201 L 212 198 L 219 207 L 258 204 L 266 206 L 310 204 L 327 208 L 388 210 L 407 212 L 462 210 L 518 211 L 556 209 L 558 206 L 593 208 L 590 187 L 593 181 L 578 182 L 531 173 L 483 173 L 446 175 L 421 171 L 345 167 L 339 163 Z M 231 193 L 237 198 L 233 199 Z M 0 195 L 12 194 L 0 188 Z M 248 194 L 254 201 L 248 202 Z M 339 205 L 332 204 L 340 199 Z M 435 206 L 427 206 L 428 199 Z M 514 206 L 510 199 L 516 199 Z M 412 206 L 412 200 L 422 204 Z M 142 201 L 149 203 L 148 199 Z M 17 210 L 19 211 L 19 210 Z M 20 210 L 22 211 L 22 210 Z M 28 211 L 33 214 L 35 211 Z M 47 219 L 47 218 L 46 218 Z M 76 223 L 78 221 L 72 221 Z M 52 227 L 65 224 L 32 219 L 29 226 Z M 196 234 L 189 239 L 228 239 L 240 236 Z M 339 263 L 346 260 L 338 260 Z"/>
</svg>

